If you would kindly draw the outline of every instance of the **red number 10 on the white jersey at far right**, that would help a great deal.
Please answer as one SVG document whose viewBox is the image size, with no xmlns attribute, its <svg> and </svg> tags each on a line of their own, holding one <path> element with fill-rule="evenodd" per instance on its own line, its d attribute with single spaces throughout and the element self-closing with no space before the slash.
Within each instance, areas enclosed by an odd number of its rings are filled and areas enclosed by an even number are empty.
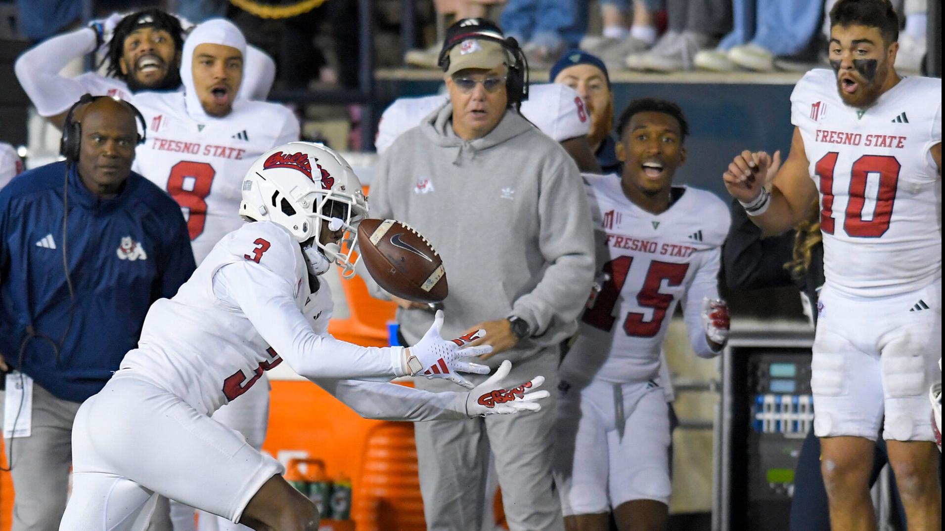
<svg viewBox="0 0 945 531">
<path fill-rule="evenodd" d="M 838 153 L 832 151 L 817 160 L 814 171 L 820 177 L 820 230 L 833 234 L 833 168 Z M 843 219 L 843 230 L 852 238 L 879 238 L 889 230 L 892 206 L 896 202 L 896 187 L 899 185 L 899 160 L 888 155 L 864 155 L 853 162 L 850 172 L 850 201 Z M 876 192 L 872 216 L 864 219 L 867 206 L 867 179 L 869 174 L 879 175 L 879 191 Z"/>
</svg>

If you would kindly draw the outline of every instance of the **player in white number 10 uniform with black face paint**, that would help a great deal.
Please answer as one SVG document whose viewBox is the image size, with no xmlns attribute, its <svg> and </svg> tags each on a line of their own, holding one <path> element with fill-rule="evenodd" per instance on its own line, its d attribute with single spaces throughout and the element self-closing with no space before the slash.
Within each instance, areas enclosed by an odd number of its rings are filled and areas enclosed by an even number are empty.
<svg viewBox="0 0 945 531">
<path fill-rule="evenodd" d="M 791 151 L 770 190 L 765 152 L 743 152 L 723 179 L 771 234 L 819 197 L 826 282 L 811 388 L 831 525 L 876 528 L 867 481 L 882 423 L 909 528 L 937 529 L 926 393 L 941 381 L 941 80 L 896 73 L 889 2 L 838 0 L 830 16 L 833 72 L 795 87 Z"/>
</svg>

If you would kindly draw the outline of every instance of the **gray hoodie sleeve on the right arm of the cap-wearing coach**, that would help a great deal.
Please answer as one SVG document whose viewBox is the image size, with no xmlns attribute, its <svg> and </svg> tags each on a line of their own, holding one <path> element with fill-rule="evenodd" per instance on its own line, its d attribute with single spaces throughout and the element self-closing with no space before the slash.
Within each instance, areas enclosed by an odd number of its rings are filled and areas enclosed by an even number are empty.
<svg viewBox="0 0 945 531">
<path fill-rule="evenodd" d="M 548 266 L 538 285 L 519 297 L 511 311 L 535 336 L 552 324 L 575 322 L 594 273 L 591 209 L 574 161 L 565 158 L 559 163 L 539 193 L 539 248 Z"/>
</svg>

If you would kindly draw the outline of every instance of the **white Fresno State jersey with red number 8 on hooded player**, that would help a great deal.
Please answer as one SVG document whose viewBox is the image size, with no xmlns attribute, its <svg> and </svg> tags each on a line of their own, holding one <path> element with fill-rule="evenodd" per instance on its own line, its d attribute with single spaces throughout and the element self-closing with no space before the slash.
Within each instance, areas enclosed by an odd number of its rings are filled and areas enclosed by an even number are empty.
<svg viewBox="0 0 945 531">
<path fill-rule="evenodd" d="M 183 92 L 141 92 L 134 103 L 145 116 L 147 140 L 135 152 L 134 171 L 179 204 L 200 263 L 225 234 L 239 228 L 243 177 L 269 149 L 299 140 L 299 121 L 281 105 L 239 100 L 223 118 L 198 120 Z"/>
</svg>

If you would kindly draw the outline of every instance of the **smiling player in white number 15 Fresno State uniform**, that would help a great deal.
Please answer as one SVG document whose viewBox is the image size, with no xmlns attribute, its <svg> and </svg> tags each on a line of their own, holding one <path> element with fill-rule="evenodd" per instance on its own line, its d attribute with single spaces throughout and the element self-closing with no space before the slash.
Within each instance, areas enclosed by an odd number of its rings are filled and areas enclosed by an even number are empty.
<svg viewBox="0 0 945 531">
<path fill-rule="evenodd" d="M 599 290 L 560 366 L 555 473 L 565 527 L 663 529 L 670 497 L 670 420 L 662 342 L 682 307 L 699 357 L 729 333 L 718 299 L 728 208 L 708 191 L 673 186 L 689 127 L 679 106 L 629 104 L 617 124 L 622 176 L 585 174 Z"/>
</svg>

